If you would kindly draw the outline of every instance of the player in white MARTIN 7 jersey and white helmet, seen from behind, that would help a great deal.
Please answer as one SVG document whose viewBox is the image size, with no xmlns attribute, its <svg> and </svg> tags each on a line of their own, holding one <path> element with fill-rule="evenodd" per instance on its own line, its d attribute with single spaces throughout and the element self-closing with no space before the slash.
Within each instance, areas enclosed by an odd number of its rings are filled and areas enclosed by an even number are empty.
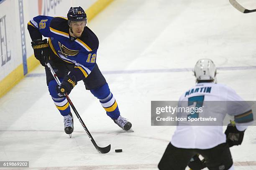
<svg viewBox="0 0 256 170">
<path fill-rule="evenodd" d="M 229 147 L 241 145 L 244 131 L 253 121 L 252 110 L 230 87 L 214 83 L 216 67 L 212 60 L 198 60 L 194 72 L 197 83 L 182 94 L 179 98 L 179 107 L 192 104 L 204 107 L 208 104 L 208 107 L 203 110 L 204 116 L 207 114 L 212 117 L 218 116 L 223 120 L 226 114 L 232 115 L 236 125 L 229 125 L 224 134 L 222 125 L 196 126 L 195 124 L 182 125 L 182 122 L 179 122 L 158 168 L 159 170 L 184 170 L 190 164 L 189 167 L 193 170 L 204 167 L 209 170 L 233 170 Z M 225 102 L 219 102 L 221 106 L 209 107 L 214 101 Z M 200 113 L 192 116 L 200 117 Z M 199 154 L 205 158 L 205 166 L 203 163 L 194 166 L 193 162 L 190 162 L 191 158 L 196 159 Z"/>
</svg>

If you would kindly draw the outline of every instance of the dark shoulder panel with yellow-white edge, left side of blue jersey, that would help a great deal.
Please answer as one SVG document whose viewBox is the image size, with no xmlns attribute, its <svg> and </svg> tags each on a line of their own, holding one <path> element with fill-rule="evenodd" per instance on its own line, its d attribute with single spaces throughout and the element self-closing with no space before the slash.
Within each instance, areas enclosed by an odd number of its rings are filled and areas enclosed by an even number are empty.
<svg viewBox="0 0 256 170">
<path fill-rule="evenodd" d="M 67 18 L 64 17 L 54 17 L 51 20 L 50 30 L 53 33 L 69 37 L 69 27 Z"/>
</svg>

